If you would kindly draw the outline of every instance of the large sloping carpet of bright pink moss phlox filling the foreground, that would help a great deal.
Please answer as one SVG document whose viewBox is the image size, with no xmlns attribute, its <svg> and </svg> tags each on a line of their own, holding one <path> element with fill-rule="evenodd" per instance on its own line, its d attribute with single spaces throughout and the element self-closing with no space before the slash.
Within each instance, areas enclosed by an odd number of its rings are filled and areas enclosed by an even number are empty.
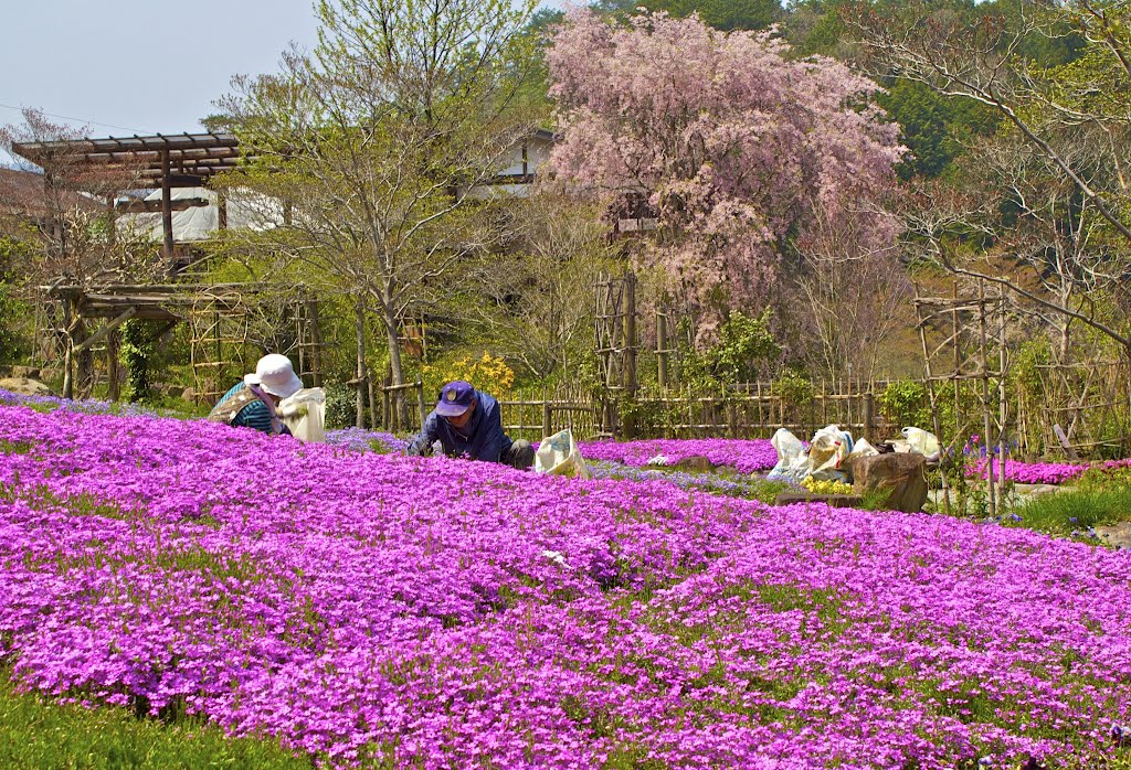
<svg viewBox="0 0 1131 770">
<path fill-rule="evenodd" d="M 25 688 L 334 764 L 1098 767 L 1131 558 L 1025 530 L 0 406 Z"/>
</svg>

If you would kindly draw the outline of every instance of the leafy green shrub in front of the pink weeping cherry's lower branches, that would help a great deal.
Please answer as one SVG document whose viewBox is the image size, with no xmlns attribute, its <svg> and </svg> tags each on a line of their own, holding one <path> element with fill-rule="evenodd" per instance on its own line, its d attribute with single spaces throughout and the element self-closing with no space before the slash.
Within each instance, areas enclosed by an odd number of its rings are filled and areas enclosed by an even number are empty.
<svg viewBox="0 0 1131 770">
<path fill-rule="evenodd" d="M 769 330 L 770 310 L 751 318 L 734 310 L 718 330 L 718 340 L 707 350 L 690 351 L 683 362 L 683 378 L 697 387 L 717 387 L 758 378 L 766 362 L 780 355 Z"/>
</svg>

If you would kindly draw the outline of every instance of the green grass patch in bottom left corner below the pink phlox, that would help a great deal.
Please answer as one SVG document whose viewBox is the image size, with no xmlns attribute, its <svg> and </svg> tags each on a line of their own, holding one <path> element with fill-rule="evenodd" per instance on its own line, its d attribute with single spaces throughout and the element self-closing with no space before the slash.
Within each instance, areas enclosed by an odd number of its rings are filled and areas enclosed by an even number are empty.
<svg viewBox="0 0 1131 770">
<path fill-rule="evenodd" d="M 141 770 L 310 768 L 277 742 L 230 738 L 199 719 L 165 724 L 138 719 L 123 708 L 87 709 L 15 691 L 0 672 L 0 767 Z"/>
</svg>

